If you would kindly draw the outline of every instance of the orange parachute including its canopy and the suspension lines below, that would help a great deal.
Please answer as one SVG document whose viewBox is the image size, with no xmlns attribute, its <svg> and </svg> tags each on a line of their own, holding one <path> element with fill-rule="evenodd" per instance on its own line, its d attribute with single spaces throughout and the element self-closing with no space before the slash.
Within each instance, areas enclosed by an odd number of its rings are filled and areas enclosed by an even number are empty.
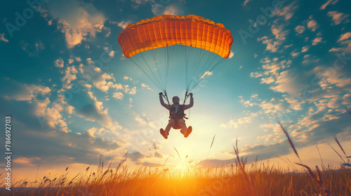
<svg viewBox="0 0 351 196">
<path fill-rule="evenodd" d="M 124 56 L 165 94 L 172 47 L 180 45 L 185 60 L 186 100 L 187 92 L 229 57 L 233 38 L 223 24 L 199 15 L 157 15 L 129 24 L 119 33 L 118 43 Z"/>
</svg>

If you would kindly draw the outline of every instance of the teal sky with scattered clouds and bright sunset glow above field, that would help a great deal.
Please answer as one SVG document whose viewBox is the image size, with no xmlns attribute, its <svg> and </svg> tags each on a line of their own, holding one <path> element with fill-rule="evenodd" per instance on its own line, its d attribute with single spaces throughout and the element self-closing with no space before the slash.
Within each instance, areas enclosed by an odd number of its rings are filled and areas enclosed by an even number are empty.
<svg viewBox="0 0 351 196">
<path fill-rule="evenodd" d="M 351 153 L 350 1 L 27 2 L 6 1 L 0 12 L 0 113 L 12 118 L 18 179 L 33 179 L 38 166 L 118 165 L 126 153 L 131 168 L 220 167 L 234 163 L 236 140 L 248 162 L 297 162 L 278 121 L 306 164 L 320 165 L 317 145 L 324 163 L 340 165 L 333 137 Z M 128 24 L 162 14 L 201 15 L 234 38 L 230 57 L 192 90 L 187 139 L 178 130 L 161 137 L 160 90 L 117 43 Z M 168 97 L 184 97 L 174 50 Z"/>
</svg>

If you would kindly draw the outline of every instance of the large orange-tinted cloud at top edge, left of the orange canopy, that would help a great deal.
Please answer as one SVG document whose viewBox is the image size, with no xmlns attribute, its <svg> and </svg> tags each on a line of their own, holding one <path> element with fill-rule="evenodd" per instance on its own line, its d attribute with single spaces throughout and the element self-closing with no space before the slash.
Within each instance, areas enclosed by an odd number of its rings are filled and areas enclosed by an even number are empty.
<svg viewBox="0 0 351 196">
<path fill-rule="evenodd" d="M 58 20 L 58 29 L 65 34 L 67 48 L 73 48 L 104 29 L 105 16 L 92 3 L 81 1 L 50 1 L 48 13 Z"/>
</svg>

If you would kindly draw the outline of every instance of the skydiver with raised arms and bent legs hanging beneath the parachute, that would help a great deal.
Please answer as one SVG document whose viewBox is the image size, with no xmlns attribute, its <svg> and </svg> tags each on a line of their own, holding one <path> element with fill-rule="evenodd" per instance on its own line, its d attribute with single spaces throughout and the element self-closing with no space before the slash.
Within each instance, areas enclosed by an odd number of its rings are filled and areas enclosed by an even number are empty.
<svg viewBox="0 0 351 196">
<path fill-rule="evenodd" d="M 187 127 L 185 125 L 185 113 L 184 111 L 187 109 L 190 109 L 194 105 L 194 99 L 192 98 L 192 93 L 190 93 L 190 104 L 185 105 L 182 104 L 180 105 L 180 99 L 178 96 L 174 96 L 172 98 L 173 104 L 165 104 L 164 103 L 164 98 L 163 98 L 163 93 L 159 93 L 159 102 L 161 103 L 162 106 L 164 106 L 168 111 L 169 111 L 169 118 L 168 120 L 168 125 L 166 126 L 166 130 L 160 129 L 159 132 L 161 135 L 164 137 L 164 139 L 168 138 L 169 131 L 171 130 L 171 127 L 173 129 L 181 129 L 180 132 L 184 135 L 184 137 L 188 137 L 191 132 L 192 132 L 192 126 Z"/>
</svg>

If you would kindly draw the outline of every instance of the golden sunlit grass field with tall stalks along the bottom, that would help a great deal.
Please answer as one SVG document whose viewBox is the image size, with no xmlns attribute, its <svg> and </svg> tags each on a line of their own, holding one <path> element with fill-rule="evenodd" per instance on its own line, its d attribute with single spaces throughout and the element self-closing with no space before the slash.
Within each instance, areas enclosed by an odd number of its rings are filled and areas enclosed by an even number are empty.
<svg viewBox="0 0 351 196">
<path fill-rule="evenodd" d="M 295 146 L 284 130 L 296 156 Z M 117 168 L 104 168 L 103 162 L 96 171 L 90 167 L 69 178 L 69 168 L 59 177 L 43 176 L 40 180 L 18 181 L 11 191 L 1 188 L 1 195 L 351 195 L 351 165 L 338 139 L 342 165 L 339 168 L 320 165 L 310 169 L 307 165 L 286 162 L 294 168 L 287 171 L 253 162 L 248 165 L 239 157 L 237 161 L 221 168 L 204 169 L 188 166 L 171 171 L 166 167 L 140 167 L 130 172 L 124 161 Z M 300 158 L 299 158 L 300 159 Z M 289 161 L 289 160 L 288 160 Z M 4 182 L 2 182 L 4 184 Z"/>
</svg>

